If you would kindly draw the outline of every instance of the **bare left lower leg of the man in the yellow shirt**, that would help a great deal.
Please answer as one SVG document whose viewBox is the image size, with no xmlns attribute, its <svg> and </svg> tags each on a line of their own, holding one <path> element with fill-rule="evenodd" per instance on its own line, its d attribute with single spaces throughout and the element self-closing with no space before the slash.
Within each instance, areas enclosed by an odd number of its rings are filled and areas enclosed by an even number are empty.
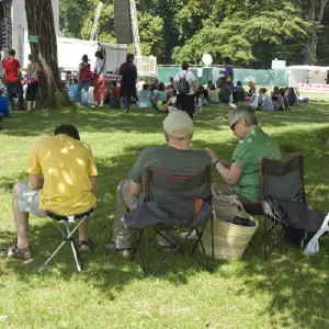
<svg viewBox="0 0 329 329">
<path fill-rule="evenodd" d="M 12 208 L 18 232 L 18 248 L 24 249 L 29 247 L 29 213 L 21 212 L 18 203 L 18 186 L 13 188 Z"/>
</svg>

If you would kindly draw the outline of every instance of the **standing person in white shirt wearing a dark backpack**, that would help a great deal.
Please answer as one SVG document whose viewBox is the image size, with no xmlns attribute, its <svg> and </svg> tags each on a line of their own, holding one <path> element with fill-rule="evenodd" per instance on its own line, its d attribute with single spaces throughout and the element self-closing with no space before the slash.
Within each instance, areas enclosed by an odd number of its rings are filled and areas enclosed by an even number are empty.
<svg viewBox="0 0 329 329">
<path fill-rule="evenodd" d="M 182 63 L 182 70 L 178 72 L 173 79 L 173 87 L 177 90 L 177 107 L 185 111 L 193 120 L 195 111 L 195 90 L 196 79 L 194 75 L 189 71 L 189 61 Z"/>
</svg>

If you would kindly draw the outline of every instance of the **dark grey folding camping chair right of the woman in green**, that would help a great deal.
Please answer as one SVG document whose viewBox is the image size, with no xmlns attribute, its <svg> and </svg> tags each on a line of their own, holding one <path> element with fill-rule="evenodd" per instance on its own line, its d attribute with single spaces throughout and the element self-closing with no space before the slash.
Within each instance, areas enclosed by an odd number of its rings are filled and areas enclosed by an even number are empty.
<svg viewBox="0 0 329 329">
<path fill-rule="evenodd" d="M 304 156 L 295 155 L 288 161 L 280 161 L 273 159 L 262 159 L 260 169 L 262 200 L 265 196 L 272 196 L 280 200 L 302 201 L 306 203 L 306 194 L 304 189 Z M 243 203 L 243 207 L 250 215 L 264 216 L 264 231 L 259 240 L 264 241 L 264 260 L 269 259 L 270 253 L 275 249 L 279 239 L 285 231 L 286 226 L 281 223 L 277 216 L 266 216 L 262 208 L 262 202 Z M 268 226 L 269 222 L 270 227 Z M 277 226 L 281 227 L 277 234 Z M 265 238 L 271 235 L 272 246 L 269 246 Z M 254 241 L 251 247 L 257 251 Z M 258 252 L 257 252 L 258 253 Z"/>
</svg>

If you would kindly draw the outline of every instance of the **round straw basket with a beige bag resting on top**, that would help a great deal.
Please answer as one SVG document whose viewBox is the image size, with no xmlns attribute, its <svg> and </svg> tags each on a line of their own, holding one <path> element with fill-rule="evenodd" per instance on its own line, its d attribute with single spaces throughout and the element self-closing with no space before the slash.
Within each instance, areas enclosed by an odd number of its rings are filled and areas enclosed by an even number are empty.
<svg viewBox="0 0 329 329">
<path fill-rule="evenodd" d="M 223 195 L 216 185 L 213 190 L 213 206 L 215 212 L 214 220 L 214 256 L 215 259 L 239 260 L 248 247 L 253 234 L 258 228 L 254 226 L 235 225 L 231 222 L 235 217 L 248 218 L 248 215 L 238 195 Z M 208 222 L 203 234 L 205 251 L 212 256 L 212 230 Z"/>
</svg>

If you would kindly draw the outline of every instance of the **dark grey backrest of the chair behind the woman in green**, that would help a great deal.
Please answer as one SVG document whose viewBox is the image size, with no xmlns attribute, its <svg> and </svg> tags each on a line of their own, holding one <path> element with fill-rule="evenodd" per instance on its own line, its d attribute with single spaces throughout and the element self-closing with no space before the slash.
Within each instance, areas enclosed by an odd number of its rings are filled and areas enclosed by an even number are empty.
<svg viewBox="0 0 329 329">
<path fill-rule="evenodd" d="M 262 159 L 262 195 L 282 200 L 305 200 L 304 156 L 295 155 L 288 161 Z"/>
</svg>

